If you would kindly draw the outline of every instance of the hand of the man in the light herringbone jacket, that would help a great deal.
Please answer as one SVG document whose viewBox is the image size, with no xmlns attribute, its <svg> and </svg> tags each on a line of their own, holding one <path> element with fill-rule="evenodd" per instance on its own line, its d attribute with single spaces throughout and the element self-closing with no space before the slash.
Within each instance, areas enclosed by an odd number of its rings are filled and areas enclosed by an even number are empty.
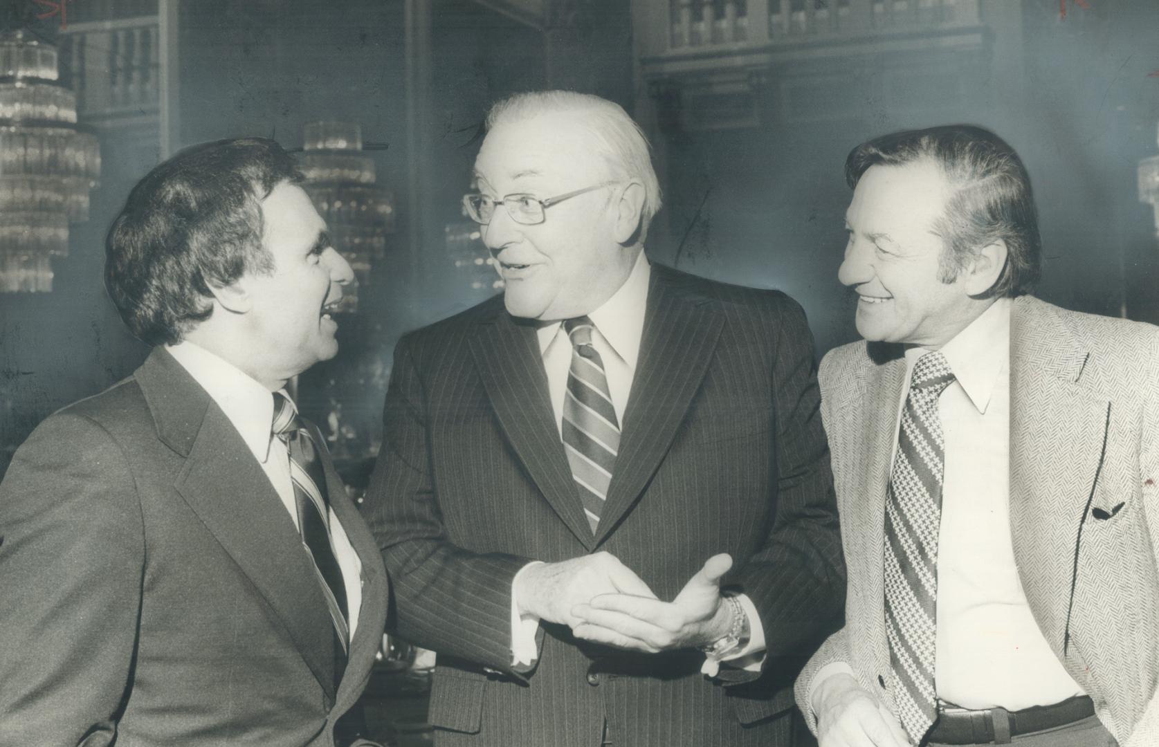
<svg viewBox="0 0 1159 747">
<path fill-rule="evenodd" d="M 819 747 L 910 747 L 889 709 L 845 673 L 832 674 L 812 695 Z"/>
</svg>

